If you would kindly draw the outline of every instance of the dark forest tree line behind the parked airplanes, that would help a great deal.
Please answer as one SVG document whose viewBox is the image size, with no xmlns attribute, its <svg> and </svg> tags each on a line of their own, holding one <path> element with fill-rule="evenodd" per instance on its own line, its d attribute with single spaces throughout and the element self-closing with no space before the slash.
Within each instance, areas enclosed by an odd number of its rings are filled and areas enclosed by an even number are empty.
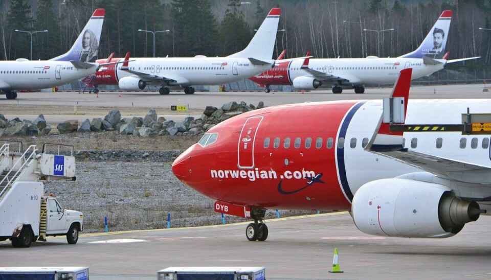
<svg viewBox="0 0 491 280">
<path fill-rule="evenodd" d="M 227 56 L 245 48 L 267 12 L 280 7 L 274 56 L 397 57 L 417 48 L 442 11 L 452 10 L 449 59 L 481 56 L 491 64 L 491 0 L 5 0 L 0 2 L 0 59 L 50 59 L 68 51 L 96 8 L 105 8 L 99 58 Z M 482 28 L 482 29 L 479 29 Z M 152 35 L 149 31 L 166 31 Z M 460 66 L 460 65 L 458 65 Z"/>
</svg>

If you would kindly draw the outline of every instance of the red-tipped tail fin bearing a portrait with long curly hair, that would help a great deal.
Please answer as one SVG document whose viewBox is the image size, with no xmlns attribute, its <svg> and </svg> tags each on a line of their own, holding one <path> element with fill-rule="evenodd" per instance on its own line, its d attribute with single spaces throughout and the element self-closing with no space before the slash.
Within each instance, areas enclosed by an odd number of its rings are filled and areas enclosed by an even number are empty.
<svg viewBox="0 0 491 280">
<path fill-rule="evenodd" d="M 96 9 L 72 45 L 72 49 L 50 60 L 96 62 L 104 14 L 104 9 Z"/>
</svg>

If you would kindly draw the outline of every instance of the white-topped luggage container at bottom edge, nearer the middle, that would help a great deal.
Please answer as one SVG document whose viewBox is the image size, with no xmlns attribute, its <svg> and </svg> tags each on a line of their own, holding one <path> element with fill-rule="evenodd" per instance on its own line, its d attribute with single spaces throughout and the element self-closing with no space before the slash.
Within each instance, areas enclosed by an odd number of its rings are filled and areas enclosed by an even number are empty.
<svg viewBox="0 0 491 280">
<path fill-rule="evenodd" d="M 264 280 L 264 267 L 168 267 L 158 280 Z"/>
</svg>

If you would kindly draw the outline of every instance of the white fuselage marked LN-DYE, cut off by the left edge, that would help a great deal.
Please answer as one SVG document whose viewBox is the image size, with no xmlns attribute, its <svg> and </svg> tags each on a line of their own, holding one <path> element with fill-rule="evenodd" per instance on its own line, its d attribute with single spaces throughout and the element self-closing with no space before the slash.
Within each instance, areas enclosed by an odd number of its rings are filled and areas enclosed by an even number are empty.
<svg viewBox="0 0 491 280">
<path fill-rule="evenodd" d="M 69 61 L 0 61 L 0 89 L 42 89 L 91 75 L 97 65 L 77 69 Z"/>
</svg>

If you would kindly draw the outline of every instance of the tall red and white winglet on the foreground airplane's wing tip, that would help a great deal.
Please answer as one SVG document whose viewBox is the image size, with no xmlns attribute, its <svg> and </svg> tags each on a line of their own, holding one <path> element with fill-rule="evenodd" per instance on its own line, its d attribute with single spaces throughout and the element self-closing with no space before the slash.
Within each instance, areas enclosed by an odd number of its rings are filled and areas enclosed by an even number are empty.
<svg viewBox="0 0 491 280">
<path fill-rule="evenodd" d="M 391 98 L 403 98 L 404 112 L 406 112 L 408 109 L 409 89 L 411 87 L 412 72 L 412 68 L 403 69 L 400 72 L 399 77 L 397 78 L 397 81 L 395 82 L 390 94 Z M 378 122 L 377 129 L 375 130 L 372 139 L 365 147 L 365 150 L 373 152 L 383 152 L 398 151 L 404 149 L 403 132 L 391 132 L 390 124 L 384 123 L 382 120 L 383 115 Z M 400 124 L 404 124 L 404 120 Z"/>
</svg>

